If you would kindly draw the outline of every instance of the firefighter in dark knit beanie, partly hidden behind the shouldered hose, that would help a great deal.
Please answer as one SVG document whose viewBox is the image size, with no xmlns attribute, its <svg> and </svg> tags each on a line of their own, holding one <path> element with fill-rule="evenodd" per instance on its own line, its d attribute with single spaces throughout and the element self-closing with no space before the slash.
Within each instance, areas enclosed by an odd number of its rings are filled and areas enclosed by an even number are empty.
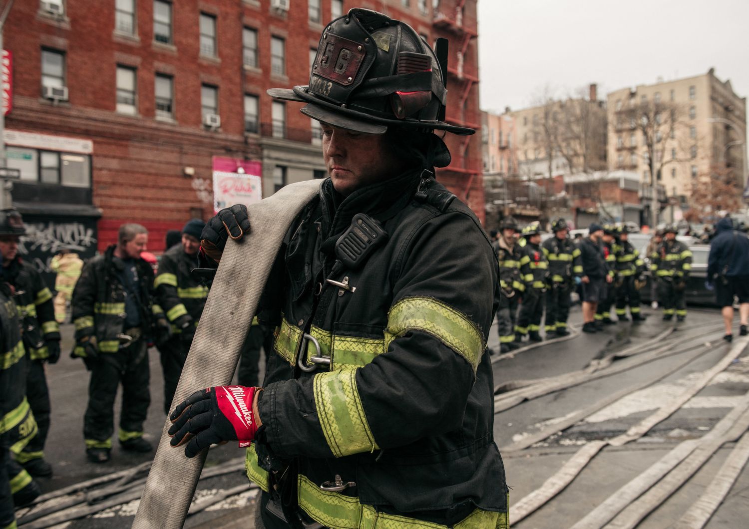
<svg viewBox="0 0 749 529">
<path fill-rule="evenodd" d="M 164 413 L 169 414 L 177 391 L 182 367 L 195 336 L 195 327 L 203 313 L 208 287 L 192 277 L 198 266 L 200 234 L 205 222 L 193 218 L 182 228 L 182 243 L 172 246 L 161 256 L 159 273 L 154 279 L 157 311 L 166 314 L 171 336 L 159 343 L 161 367 L 164 372 Z"/>
</svg>

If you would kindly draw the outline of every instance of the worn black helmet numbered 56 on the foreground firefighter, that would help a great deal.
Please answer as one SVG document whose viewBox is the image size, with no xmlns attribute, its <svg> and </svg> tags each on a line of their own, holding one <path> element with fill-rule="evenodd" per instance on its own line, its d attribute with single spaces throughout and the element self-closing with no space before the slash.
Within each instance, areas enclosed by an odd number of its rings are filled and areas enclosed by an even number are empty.
<svg viewBox="0 0 749 529">
<path fill-rule="evenodd" d="M 303 114 L 341 129 L 410 132 L 428 143 L 431 165 L 446 167 L 449 150 L 431 132 L 476 132 L 445 121 L 447 57 L 446 39 L 437 39 L 433 50 L 407 23 L 354 7 L 324 28 L 309 85 L 267 93 L 306 103 Z"/>
</svg>

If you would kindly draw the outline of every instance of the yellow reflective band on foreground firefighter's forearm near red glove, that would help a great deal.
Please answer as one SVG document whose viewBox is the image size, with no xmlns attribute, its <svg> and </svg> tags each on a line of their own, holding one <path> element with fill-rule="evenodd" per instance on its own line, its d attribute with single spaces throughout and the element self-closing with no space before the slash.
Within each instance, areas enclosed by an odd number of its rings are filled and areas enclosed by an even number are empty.
<svg viewBox="0 0 749 529">
<path fill-rule="evenodd" d="M 379 448 L 359 397 L 357 369 L 319 373 L 314 379 L 318 419 L 330 451 L 336 457 Z"/>
</svg>

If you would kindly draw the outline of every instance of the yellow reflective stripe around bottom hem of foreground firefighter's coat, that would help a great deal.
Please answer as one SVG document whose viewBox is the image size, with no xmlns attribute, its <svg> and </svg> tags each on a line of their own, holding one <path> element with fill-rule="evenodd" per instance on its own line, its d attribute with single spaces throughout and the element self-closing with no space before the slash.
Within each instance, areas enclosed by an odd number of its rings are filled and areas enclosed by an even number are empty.
<svg viewBox="0 0 749 529">
<path fill-rule="evenodd" d="M 297 476 L 297 502 L 299 506 L 325 527 L 336 529 L 447 529 L 448 526 L 425 522 L 407 516 L 383 513 L 371 505 L 362 504 L 359 498 L 345 496 L 339 492 L 323 490 L 309 477 Z M 507 529 L 507 513 L 476 509 L 455 529 Z"/>
</svg>

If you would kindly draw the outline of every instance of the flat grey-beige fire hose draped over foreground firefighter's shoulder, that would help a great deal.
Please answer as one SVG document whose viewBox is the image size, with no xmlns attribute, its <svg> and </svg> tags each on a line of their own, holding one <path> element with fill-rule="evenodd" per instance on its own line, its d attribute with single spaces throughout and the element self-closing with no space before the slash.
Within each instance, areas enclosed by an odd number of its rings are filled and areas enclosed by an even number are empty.
<svg viewBox="0 0 749 529">
<path fill-rule="evenodd" d="M 252 231 L 240 243 L 226 244 L 170 413 L 197 389 L 231 384 L 281 242 L 319 189 L 319 180 L 294 183 L 247 208 Z M 207 450 L 187 459 L 169 445 L 169 426 L 167 415 L 133 529 L 180 529 L 192 502 Z"/>
</svg>

